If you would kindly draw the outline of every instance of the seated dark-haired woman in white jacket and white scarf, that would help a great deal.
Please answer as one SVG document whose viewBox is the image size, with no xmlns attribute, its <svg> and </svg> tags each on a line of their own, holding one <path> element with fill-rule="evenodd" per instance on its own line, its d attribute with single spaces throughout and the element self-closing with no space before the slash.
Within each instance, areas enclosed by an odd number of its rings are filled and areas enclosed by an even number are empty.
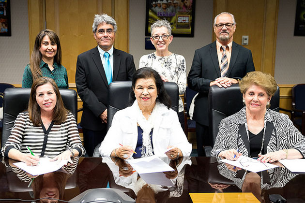
<svg viewBox="0 0 305 203">
<path fill-rule="evenodd" d="M 173 160 L 189 156 L 192 145 L 186 139 L 177 113 L 170 109 L 170 98 L 160 75 L 151 68 L 138 69 L 132 89 L 132 105 L 113 117 L 99 148 L 100 154 L 122 159 L 156 155 Z"/>
</svg>

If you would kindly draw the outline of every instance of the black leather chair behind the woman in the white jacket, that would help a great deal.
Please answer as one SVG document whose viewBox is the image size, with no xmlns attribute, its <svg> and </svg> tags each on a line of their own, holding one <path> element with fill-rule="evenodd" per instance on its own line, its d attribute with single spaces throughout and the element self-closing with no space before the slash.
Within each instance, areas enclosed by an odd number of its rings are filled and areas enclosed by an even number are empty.
<svg viewBox="0 0 305 203">
<path fill-rule="evenodd" d="M 108 91 L 108 109 L 107 109 L 107 130 L 111 126 L 113 116 L 117 111 L 122 110 L 128 106 L 129 94 L 132 90 L 132 81 L 116 81 L 109 85 Z M 173 82 L 164 83 L 164 87 L 171 99 L 171 109 L 178 113 L 179 105 L 179 90 L 178 85 Z M 98 144 L 93 152 L 93 157 L 101 157 L 98 148 L 101 144 Z"/>
</svg>

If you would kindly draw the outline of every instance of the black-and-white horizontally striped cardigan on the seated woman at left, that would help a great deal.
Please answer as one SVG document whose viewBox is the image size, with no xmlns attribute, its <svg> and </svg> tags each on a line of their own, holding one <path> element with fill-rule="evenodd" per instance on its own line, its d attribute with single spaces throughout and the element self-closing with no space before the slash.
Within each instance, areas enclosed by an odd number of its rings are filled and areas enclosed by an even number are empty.
<svg viewBox="0 0 305 203">
<path fill-rule="evenodd" d="M 11 134 L 2 147 L 1 153 L 3 157 L 8 157 L 11 148 L 15 148 L 22 153 L 29 153 L 26 146 L 37 155 L 54 158 L 68 148 L 76 149 L 78 156 L 85 155 L 76 125 L 75 117 L 72 113 L 67 114 L 65 122 L 60 125 L 54 124 L 45 138 L 42 126 L 34 126 L 30 120 L 28 112 L 20 113 L 11 130 Z M 45 142 L 46 139 L 46 142 Z"/>
</svg>

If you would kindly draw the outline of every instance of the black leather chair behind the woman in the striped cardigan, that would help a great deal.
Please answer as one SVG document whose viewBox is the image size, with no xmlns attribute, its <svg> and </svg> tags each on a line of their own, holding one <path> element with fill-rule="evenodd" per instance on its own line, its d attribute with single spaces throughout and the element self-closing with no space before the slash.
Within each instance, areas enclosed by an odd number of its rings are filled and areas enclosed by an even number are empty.
<svg viewBox="0 0 305 203">
<path fill-rule="evenodd" d="M 27 110 L 31 88 L 8 88 L 3 99 L 3 129 L 1 147 L 10 136 L 14 121 L 20 112 Z M 77 120 L 77 94 L 73 89 L 60 89 L 65 107 L 73 113 Z"/>
</svg>

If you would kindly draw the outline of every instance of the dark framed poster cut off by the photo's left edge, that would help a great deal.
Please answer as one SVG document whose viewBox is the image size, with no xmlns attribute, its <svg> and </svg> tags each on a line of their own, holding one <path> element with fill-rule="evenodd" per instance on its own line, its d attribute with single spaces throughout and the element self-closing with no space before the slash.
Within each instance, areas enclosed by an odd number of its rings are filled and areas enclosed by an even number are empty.
<svg viewBox="0 0 305 203">
<path fill-rule="evenodd" d="M 0 0 L 0 36 L 12 36 L 10 0 Z"/>
</svg>

